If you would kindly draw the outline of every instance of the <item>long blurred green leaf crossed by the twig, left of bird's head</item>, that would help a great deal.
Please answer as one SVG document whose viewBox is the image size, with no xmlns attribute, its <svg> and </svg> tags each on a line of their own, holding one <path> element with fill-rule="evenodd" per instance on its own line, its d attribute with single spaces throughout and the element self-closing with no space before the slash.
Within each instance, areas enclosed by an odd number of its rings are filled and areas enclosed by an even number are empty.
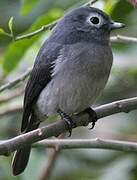
<svg viewBox="0 0 137 180">
<path fill-rule="evenodd" d="M 33 32 L 34 30 L 41 28 L 43 25 L 55 21 L 63 14 L 63 11 L 60 9 L 55 9 L 56 13 L 53 13 L 53 11 L 54 10 L 38 18 L 38 20 L 25 34 L 27 34 L 28 32 Z M 39 35 L 35 35 L 30 39 L 23 39 L 21 41 L 12 42 L 9 45 L 7 51 L 3 56 L 3 59 L 1 59 L 3 62 L 3 70 L 5 72 L 5 75 L 8 75 L 17 67 L 28 48 L 32 46 L 33 43 L 36 43 L 41 35 L 42 33 Z"/>
</svg>

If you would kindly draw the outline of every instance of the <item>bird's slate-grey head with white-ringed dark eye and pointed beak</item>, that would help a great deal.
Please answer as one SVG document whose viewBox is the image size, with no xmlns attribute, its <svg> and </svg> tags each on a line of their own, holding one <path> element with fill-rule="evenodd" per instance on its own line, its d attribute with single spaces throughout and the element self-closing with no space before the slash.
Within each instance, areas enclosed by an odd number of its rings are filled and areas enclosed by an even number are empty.
<svg viewBox="0 0 137 180">
<path fill-rule="evenodd" d="M 113 29 L 123 28 L 122 23 L 114 22 L 100 9 L 85 6 L 66 14 L 54 29 L 59 41 L 108 41 Z"/>
</svg>

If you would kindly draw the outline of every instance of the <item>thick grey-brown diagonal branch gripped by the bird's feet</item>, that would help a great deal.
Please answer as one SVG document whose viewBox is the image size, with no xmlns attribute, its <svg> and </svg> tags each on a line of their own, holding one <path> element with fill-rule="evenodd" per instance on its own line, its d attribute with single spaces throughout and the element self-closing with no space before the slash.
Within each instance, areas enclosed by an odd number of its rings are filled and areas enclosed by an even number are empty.
<svg viewBox="0 0 137 180">
<path fill-rule="evenodd" d="M 94 110 L 97 113 L 98 119 L 116 114 L 119 112 L 129 112 L 137 109 L 137 97 L 129 98 L 121 101 L 116 101 L 110 104 L 102 105 Z M 92 119 L 86 113 L 79 113 L 72 116 L 76 127 L 87 126 Z M 74 127 L 73 127 L 74 128 Z M 35 143 L 37 141 L 52 137 L 59 136 L 68 130 L 68 126 L 63 120 L 59 120 L 48 126 L 38 128 L 34 131 L 26 134 L 19 135 L 9 140 L 1 141 L 0 143 L 0 155 L 8 155 L 11 152 L 24 147 L 25 145 Z"/>
</svg>

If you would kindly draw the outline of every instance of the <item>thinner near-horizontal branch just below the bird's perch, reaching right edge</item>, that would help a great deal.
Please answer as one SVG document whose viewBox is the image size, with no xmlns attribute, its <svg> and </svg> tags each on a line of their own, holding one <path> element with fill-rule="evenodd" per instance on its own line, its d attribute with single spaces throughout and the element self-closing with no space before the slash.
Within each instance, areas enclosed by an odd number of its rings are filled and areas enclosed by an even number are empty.
<svg viewBox="0 0 137 180">
<path fill-rule="evenodd" d="M 43 140 L 33 145 L 33 147 L 54 148 L 59 146 L 61 149 L 108 149 L 117 151 L 137 152 L 136 142 L 116 141 L 106 139 L 61 139 Z"/>
</svg>

